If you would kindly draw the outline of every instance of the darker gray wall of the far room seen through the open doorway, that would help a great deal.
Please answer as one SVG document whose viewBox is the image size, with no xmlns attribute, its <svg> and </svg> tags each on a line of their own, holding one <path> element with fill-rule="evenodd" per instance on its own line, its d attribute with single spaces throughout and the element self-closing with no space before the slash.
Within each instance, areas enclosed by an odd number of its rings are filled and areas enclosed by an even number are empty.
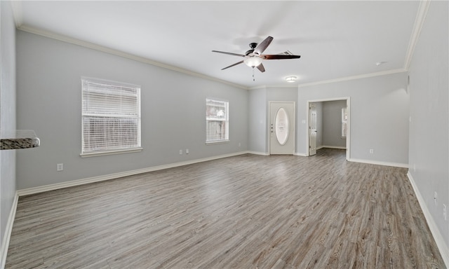
<svg viewBox="0 0 449 269">
<path fill-rule="evenodd" d="M 323 146 L 346 148 L 346 139 L 342 138 L 342 108 L 346 100 L 322 102 L 323 104 Z"/>
</svg>

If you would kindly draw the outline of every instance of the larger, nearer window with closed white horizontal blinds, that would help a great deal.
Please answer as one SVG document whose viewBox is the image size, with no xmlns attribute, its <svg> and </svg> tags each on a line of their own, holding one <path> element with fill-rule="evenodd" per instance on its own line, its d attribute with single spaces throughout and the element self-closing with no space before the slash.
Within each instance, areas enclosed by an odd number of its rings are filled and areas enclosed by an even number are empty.
<svg viewBox="0 0 449 269">
<path fill-rule="evenodd" d="M 81 156 L 98 156 L 140 147 L 140 86 L 81 78 Z"/>
</svg>

